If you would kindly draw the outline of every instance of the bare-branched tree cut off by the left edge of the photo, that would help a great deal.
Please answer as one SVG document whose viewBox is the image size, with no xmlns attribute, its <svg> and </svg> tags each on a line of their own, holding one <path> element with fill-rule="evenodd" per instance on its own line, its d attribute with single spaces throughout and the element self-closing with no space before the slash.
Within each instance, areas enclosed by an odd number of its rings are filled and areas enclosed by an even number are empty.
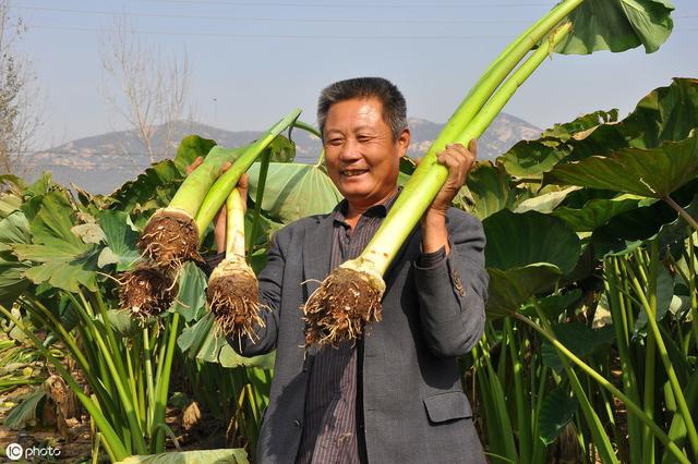
<svg viewBox="0 0 698 464">
<path fill-rule="evenodd" d="M 31 62 L 16 50 L 26 27 L 10 8 L 9 0 L 0 0 L 0 173 L 23 174 L 25 157 L 36 144 L 41 103 Z"/>
</svg>

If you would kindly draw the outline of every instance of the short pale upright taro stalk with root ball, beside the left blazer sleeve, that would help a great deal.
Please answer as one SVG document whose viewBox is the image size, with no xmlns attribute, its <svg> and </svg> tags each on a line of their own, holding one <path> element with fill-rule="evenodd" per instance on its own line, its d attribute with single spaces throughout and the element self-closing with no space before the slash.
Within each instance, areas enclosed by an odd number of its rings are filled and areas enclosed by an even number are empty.
<svg viewBox="0 0 698 464">
<path fill-rule="evenodd" d="M 257 279 L 245 260 L 242 202 L 240 191 L 233 188 L 226 202 L 226 257 L 210 273 L 206 300 L 224 335 L 254 340 L 253 327 L 264 327 L 264 320 L 260 317 Z"/>
</svg>

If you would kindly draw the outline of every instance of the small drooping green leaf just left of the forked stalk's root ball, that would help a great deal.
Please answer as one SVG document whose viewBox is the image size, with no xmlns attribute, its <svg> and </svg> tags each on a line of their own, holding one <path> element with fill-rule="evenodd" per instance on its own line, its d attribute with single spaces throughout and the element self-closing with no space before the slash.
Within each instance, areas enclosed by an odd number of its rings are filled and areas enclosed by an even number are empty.
<svg viewBox="0 0 698 464">
<path fill-rule="evenodd" d="M 104 210 L 99 212 L 98 220 L 107 243 L 99 254 L 99 267 L 116 264 L 118 272 L 130 269 L 141 254 L 135 245 L 139 233 L 129 225 L 129 215 L 125 211 Z"/>
</svg>

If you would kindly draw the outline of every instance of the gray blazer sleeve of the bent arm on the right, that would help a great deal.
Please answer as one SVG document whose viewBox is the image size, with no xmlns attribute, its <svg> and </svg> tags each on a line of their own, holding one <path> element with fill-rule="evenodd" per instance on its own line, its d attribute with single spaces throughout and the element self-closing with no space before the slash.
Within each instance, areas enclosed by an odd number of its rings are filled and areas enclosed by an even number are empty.
<svg viewBox="0 0 698 464">
<path fill-rule="evenodd" d="M 413 262 L 421 330 L 437 356 L 460 356 L 484 329 L 489 276 L 484 269 L 482 223 L 452 208 L 447 216 L 450 252 L 430 268 Z"/>
</svg>

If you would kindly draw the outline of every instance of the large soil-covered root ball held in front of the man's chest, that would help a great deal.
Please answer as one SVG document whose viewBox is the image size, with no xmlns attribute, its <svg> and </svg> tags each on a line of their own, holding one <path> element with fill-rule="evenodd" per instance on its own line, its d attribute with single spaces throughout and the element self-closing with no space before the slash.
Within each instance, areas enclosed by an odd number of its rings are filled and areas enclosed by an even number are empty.
<svg viewBox="0 0 698 464">
<path fill-rule="evenodd" d="M 303 307 L 305 345 L 354 341 L 366 323 L 381 320 L 381 296 L 362 272 L 336 268 Z"/>
</svg>

